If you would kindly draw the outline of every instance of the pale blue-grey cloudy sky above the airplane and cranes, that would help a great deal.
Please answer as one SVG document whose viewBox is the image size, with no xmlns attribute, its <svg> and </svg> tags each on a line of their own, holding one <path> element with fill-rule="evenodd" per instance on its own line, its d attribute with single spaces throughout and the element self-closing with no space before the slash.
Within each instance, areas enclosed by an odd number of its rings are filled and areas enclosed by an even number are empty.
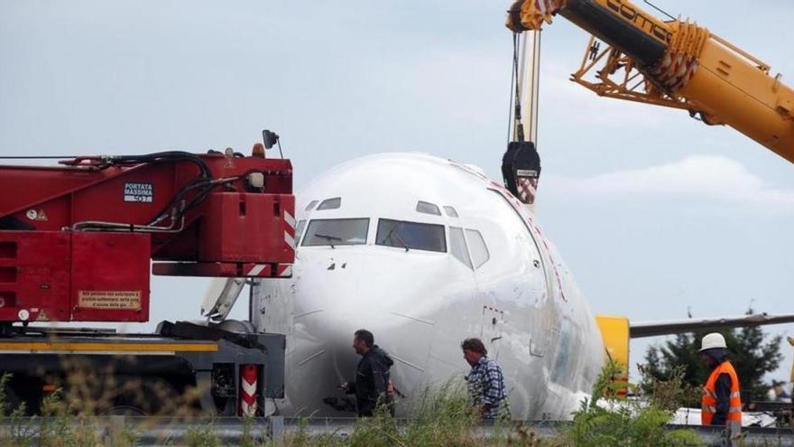
<svg viewBox="0 0 794 447">
<path fill-rule="evenodd" d="M 245 152 L 269 128 L 299 191 L 337 163 L 388 151 L 474 163 L 498 180 L 510 3 L 2 0 L 0 155 Z M 789 0 L 654 4 L 794 85 L 781 38 Z M 594 312 L 794 312 L 794 164 L 731 128 L 568 81 L 587 38 L 562 17 L 542 32 L 537 214 Z M 127 329 L 198 319 L 207 286 L 153 278 L 152 323 Z M 632 341 L 632 362 L 662 340 Z M 770 378 L 789 377 L 791 348 L 781 349 Z"/>
</svg>

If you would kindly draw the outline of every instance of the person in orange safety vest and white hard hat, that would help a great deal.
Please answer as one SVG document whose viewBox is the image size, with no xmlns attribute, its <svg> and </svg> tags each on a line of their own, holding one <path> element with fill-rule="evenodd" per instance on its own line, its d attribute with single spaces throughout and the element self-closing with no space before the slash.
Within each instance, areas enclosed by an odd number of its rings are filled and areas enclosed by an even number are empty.
<svg viewBox="0 0 794 447">
<path fill-rule="evenodd" d="M 742 400 L 739 397 L 739 377 L 731 362 L 725 337 L 713 332 L 703 337 L 700 355 L 711 375 L 706 380 L 700 401 L 700 423 L 727 425 L 732 437 L 742 430 Z"/>
</svg>

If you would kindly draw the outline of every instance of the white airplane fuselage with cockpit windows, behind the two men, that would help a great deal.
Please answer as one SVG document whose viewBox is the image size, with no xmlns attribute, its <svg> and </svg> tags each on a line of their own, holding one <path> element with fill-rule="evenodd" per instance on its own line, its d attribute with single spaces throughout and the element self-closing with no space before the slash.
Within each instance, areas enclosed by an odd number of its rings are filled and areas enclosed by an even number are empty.
<svg viewBox="0 0 794 447">
<path fill-rule="evenodd" d="M 310 183 L 296 210 L 292 277 L 263 281 L 252 303 L 258 331 L 287 334 L 283 414 L 349 415 L 328 402 L 353 378 L 357 329 L 409 399 L 463 380 L 467 337 L 502 366 L 513 417 L 567 419 L 590 392 L 595 319 L 531 212 L 478 168 L 367 156 Z"/>
</svg>

